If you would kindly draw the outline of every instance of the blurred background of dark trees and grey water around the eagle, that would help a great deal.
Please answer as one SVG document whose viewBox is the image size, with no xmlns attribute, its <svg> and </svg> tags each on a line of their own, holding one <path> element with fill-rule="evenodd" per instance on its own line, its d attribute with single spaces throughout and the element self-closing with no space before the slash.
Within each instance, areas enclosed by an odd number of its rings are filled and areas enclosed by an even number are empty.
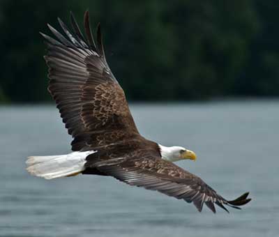
<svg viewBox="0 0 279 237">
<path fill-rule="evenodd" d="M 107 61 L 147 139 L 185 146 L 177 165 L 229 215 L 103 176 L 45 181 L 29 155 L 70 153 L 47 92 L 46 24 L 101 22 Z M 279 1 L 0 0 L 0 236 L 275 237 L 279 233 Z M 52 102 L 52 105 L 49 105 Z"/>
</svg>

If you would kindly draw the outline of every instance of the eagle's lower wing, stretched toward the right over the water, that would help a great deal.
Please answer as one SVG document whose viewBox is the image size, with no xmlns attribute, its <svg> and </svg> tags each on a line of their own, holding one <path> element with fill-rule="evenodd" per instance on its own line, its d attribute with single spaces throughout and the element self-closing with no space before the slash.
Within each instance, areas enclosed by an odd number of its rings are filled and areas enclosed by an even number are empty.
<svg viewBox="0 0 279 237">
<path fill-rule="evenodd" d="M 201 178 L 190 174 L 172 162 L 162 160 L 156 155 L 147 154 L 146 151 L 142 151 L 142 158 L 139 158 L 138 155 L 139 153 L 137 153 L 137 157 L 131 155 L 128 160 L 122 162 L 114 159 L 119 162 L 117 165 L 114 160 L 108 160 L 107 165 L 97 164 L 96 167 L 99 171 L 114 176 L 129 185 L 157 190 L 176 199 L 184 199 L 188 203 L 193 202 L 198 211 L 202 211 L 203 204 L 216 213 L 214 204 L 227 211 L 224 205 L 239 208 L 238 206 L 250 201 L 250 199 L 246 199 L 248 192 L 233 201 L 227 201 L 209 185 L 206 185 Z"/>
</svg>

